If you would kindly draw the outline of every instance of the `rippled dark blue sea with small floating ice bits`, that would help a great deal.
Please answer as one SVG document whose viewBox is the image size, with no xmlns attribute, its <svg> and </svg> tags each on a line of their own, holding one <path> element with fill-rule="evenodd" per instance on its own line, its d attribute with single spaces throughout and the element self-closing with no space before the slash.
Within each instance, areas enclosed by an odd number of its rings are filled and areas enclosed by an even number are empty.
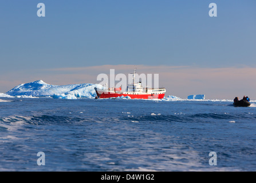
<svg viewBox="0 0 256 183">
<path fill-rule="evenodd" d="M 255 171 L 256 108 L 0 98 L 0 171 Z"/>
</svg>

